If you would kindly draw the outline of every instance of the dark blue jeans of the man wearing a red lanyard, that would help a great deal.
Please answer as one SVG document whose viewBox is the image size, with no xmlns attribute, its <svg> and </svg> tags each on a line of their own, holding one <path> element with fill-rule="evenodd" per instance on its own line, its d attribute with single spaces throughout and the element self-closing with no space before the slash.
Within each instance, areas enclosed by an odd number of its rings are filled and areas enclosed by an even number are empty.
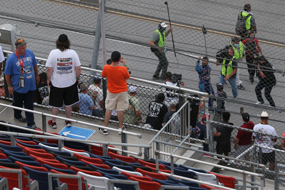
<svg viewBox="0 0 285 190">
<path fill-rule="evenodd" d="M 24 108 L 28 110 L 34 110 L 34 96 L 35 91 L 29 90 L 27 93 L 19 93 L 14 91 L 13 92 L 13 106 L 21 107 L 23 108 L 23 102 L 24 102 Z M 14 110 L 14 118 L 20 119 L 22 118 L 22 110 Z M 35 124 L 34 121 L 34 113 L 31 112 L 25 112 L 26 120 L 27 120 L 27 126 L 31 127 Z"/>
</svg>

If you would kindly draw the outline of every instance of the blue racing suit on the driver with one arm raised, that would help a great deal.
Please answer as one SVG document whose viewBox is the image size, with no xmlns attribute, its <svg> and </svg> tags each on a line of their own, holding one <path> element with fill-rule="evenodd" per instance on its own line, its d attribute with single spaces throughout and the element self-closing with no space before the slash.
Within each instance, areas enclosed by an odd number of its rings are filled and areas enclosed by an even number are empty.
<svg viewBox="0 0 285 190">
<path fill-rule="evenodd" d="M 197 61 L 195 70 L 199 74 L 199 90 L 200 90 L 200 92 L 213 94 L 213 96 L 215 96 L 214 89 L 213 89 L 213 87 L 209 81 L 210 73 L 211 73 L 211 66 L 209 65 L 209 71 L 208 71 L 208 66 L 200 65 L 200 61 Z M 213 100 L 211 98 L 209 98 L 209 107 L 213 107 Z"/>
</svg>

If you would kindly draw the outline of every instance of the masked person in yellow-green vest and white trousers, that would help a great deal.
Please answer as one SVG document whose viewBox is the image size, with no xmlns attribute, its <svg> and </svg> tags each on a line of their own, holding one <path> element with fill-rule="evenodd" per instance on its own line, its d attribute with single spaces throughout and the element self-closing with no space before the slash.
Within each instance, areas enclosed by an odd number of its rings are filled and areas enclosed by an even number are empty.
<svg viewBox="0 0 285 190">
<path fill-rule="evenodd" d="M 237 59 L 237 61 L 243 61 L 243 43 L 240 41 L 240 38 L 234 37 L 232 38 L 232 43 L 230 43 L 232 48 L 234 49 L 234 57 Z M 240 90 L 245 89 L 245 87 L 242 85 L 242 81 L 240 80 L 240 70 L 238 68 L 237 71 L 237 87 Z"/>
</svg>

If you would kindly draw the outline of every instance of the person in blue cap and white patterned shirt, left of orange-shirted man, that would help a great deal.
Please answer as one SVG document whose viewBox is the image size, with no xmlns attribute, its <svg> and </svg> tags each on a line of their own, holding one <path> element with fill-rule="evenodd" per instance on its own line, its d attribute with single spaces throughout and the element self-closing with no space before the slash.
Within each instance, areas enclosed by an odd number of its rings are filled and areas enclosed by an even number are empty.
<svg viewBox="0 0 285 190">
<path fill-rule="evenodd" d="M 94 109 L 92 115 L 99 118 L 104 118 L 104 101 L 103 101 L 103 90 L 99 87 L 101 83 L 101 75 L 96 75 L 93 79 L 93 84 L 88 88 L 88 95 L 91 96 L 94 102 Z"/>
</svg>

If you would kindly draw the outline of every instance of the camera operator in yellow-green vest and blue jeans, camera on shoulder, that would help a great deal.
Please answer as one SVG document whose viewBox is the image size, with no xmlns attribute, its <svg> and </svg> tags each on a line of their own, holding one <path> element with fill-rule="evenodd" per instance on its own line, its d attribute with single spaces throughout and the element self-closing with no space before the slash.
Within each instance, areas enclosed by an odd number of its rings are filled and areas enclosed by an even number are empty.
<svg viewBox="0 0 285 190">
<path fill-rule="evenodd" d="M 229 81 L 232 87 L 233 100 L 238 99 L 238 87 L 236 82 L 236 73 L 238 71 L 237 59 L 234 57 L 234 49 L 230 46 L 226 46 L 226 50 L 219 52 L 217 55 L 216 65 L 221 65 L 221 74 L 219 76 L 219 83 L 224 84 L 225 81 Z M 228 59 L 228 60 L 225 60 Z M 218 94 L 218 91 L 217 91 Z"/>
</svg>

